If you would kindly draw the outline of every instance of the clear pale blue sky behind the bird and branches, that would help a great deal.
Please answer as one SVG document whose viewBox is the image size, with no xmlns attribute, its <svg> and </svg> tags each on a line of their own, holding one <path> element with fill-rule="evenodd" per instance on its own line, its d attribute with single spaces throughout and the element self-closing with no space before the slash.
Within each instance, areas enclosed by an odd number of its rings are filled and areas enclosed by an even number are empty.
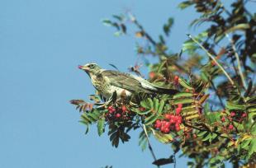
<svg viewBox="0 0 256 168">
<path fill-rule="evenodd" d="M 126 72 L 137 59 L 134 35 L 115 37 L 102 19 L 130 10 L 154 37 L 175 17 L 173 51 L 186 40 L 197 15 L 180 12 L 178 1 L 0 1 L 0 167 L 154 167 L 149 151 L 138 147 L 138 132 L 117 149 L 95 127 L 84 135 L 69 100 L 94 89 L 78 64 L 115 64 Z M 142 60 L 141 60 L 142 61 Z M 158 157 L 172 151 L 152 138 Z M 179 167 L 186 159 L 178 159 Z M 168 166 L 166 166 L 168 167 Z"/>
</svg>

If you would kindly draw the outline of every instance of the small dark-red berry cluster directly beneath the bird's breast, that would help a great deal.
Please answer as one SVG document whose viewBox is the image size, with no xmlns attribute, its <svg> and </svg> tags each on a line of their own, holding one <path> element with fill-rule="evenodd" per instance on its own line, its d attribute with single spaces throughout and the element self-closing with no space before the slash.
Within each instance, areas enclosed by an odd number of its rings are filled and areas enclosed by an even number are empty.
<svg viewBox="0 0 256 168">
<path fill-rule="evenodd" d="M 108 111 L 105 114 L 105 117 L 106 117 L 106 120 L 108 121 L 113 121 L 113 120 L 128 121 L 132 118 L 132 114 L 130 113 L 130 110 L 127 110 L 126 105 L 122 105 L 121 108 L 109 106 L 107 110 Z"/>
</svg>

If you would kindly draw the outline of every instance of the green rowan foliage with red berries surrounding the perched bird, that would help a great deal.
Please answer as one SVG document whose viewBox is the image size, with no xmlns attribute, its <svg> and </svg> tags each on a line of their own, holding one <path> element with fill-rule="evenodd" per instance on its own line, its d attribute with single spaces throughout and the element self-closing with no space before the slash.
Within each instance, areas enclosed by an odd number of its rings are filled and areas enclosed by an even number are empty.
<svg viewBox="0 0 256 168">
<path fill-rule="evenodd" d="M 81 112 L 81 123 L 87 127 L 97 124 L 99 135 L 107 130 L 114 147 L 129 141 L 130 130 L 140 128 L 143 150 L 150 149 L 149 137 L 154 136 L 159 142 L 171 143 L 175 153 L 181 150 L 182 156 L 191 158 L 189 167 L 224 167 L 224 161 L 237 167 L 255 161 L 256 14 L 246 9 L 247 2 L 232 2 L 230 11 L 218 0 L 180 3 L 182 10 L 194 7 L 200 14 L 191 26 L 208 24 L 199 35 L 188 35 L 179 54 L 169 52 L 165 42 L 173 18 L 164 24 L 159 40 L 131 14 L 104 20 L 105 25 L 116 28 L 115 35 L 126 35 L 127 24 L 135 25 L 135 37 L 149 42 L 138 44 L 137 53 L 159 58 L 158 63 L 147 63 L 149 82 L 174 87 L 179 93 L 138 94 L 107 104 L 97 94 L 91 96 L 92 104 L 72 100 Z M 138 67 L 133 69 L 140 74 Z M 170 156 L 153 164 L 173 162 Z"/>
</svg>

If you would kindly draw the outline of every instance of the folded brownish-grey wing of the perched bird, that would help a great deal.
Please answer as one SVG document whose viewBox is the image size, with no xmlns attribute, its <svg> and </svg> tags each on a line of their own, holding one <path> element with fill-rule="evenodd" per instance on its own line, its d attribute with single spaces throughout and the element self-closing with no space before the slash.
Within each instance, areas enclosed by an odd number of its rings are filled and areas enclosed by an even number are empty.
<svg viewBox="0 0 256 168">
<path fill-rule="evenodd" d="M 105 70 L 102 71 L 102 77 L 105 77 L 111 85 L 121 87 L 127 91 L 147 91 L 144 86 L 142 86 L 140 80 L 128 73 Z"/>
</svg>

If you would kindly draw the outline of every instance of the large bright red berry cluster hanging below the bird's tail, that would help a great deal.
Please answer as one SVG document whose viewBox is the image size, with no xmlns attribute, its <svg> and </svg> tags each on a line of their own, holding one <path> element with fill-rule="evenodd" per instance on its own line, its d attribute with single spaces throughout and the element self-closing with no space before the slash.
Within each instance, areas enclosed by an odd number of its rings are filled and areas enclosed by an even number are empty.
<svg viewBox="0 0 256 168">
<path fill-rule="evenodd" d="M 171 130 L 180 131 L 182 116 L 180 115 L 183 105 L 179 104 L 175 114 L 164 114 L 164 119 L 155 121 L 154 128 L 159 129 L 162 133 L 170 133 Z"/>
</svg>

